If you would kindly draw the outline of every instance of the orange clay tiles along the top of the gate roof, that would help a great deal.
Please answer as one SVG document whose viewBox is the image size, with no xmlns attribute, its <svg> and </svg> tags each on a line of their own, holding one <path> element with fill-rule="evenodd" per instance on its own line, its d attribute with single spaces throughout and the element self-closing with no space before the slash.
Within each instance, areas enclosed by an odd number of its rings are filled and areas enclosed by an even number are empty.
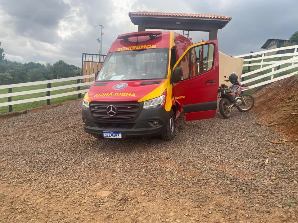
<svg viewBox="0 0 298 223">
<path fill-rule="evenodd" d="M 180 17 L 196 17 L 196 18 L 211 18 L 211 19 L 227 19 L 231 20 L 232 17 L 226 15 L 214 15 L 214 14 L 187 14 L 187 13 L 166 13 L 166 12 L 129 12 L 130 15 L 164 15 L 164 16 L 180 16 Z"/>
</svg>

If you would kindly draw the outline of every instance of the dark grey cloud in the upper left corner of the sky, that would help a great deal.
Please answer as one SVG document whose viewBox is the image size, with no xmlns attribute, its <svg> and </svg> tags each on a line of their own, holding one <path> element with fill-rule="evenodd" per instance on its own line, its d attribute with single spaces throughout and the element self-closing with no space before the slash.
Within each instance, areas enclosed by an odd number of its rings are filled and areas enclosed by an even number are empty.
<svg viewBox="0 0 298 223">
<path fill-rule="evenodd" d="M 53 31 L 70 10 L 70 5 L 60 0 L 1 0 L 0 7 L 10 16 L 6 22 L 15 34 L 49 43 L 57 41 Z"/>
</svg>

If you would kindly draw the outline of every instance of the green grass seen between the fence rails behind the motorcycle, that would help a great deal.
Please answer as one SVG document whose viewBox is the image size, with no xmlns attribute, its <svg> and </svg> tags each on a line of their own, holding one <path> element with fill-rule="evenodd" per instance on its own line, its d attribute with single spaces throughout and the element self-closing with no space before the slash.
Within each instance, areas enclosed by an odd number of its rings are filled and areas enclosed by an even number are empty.
<svg viewBox="0 0 298 223">
<path fill-rule="evenodd" d="M 260 57 L 261 58 L 261 57 Z M 291 59 L 293 58 L 293 56 L 284 56 L 282 57 L 282 60 L 287 60 L 287 59 Z M 278 57 L 275 57 L 275 58 L 270 58 L 270 59 L 264 59 L 263 62 L 269 62 L 269 61 L 277 61 L 278 60 Z M 254 70 L 257 70 L 257 69 L 260 69 L 261 66 L 253 66 L 254 63 L 261 63 L 262 60 L 253 60 L 251 61 L 251 71 L 254 71 Z M 245 61 L 243 62 L 243 64 L 248 64 L 248 61 Z M 295 63 L 296 64 L 296 63 Z M 266 65 L 263 65 L 263 68 L 264 67 L 267 67 L 267 66 L 270 66 L 271 64 L 266 64 Z M 280 69 L 282 68 L 285 68 L 285 67 L 288 67 L 288 66 L 291 66 L 292 63 L 286 63 L 286 64 L 282 64 L 280 65 Z M 274 68 L 274 71 L 277 70 L 277 67 Z M 244 80 L 249 80 L 251 78 L 254 78 L 254 77 L 258 77 L 260 75 L 263 75 L 263 74 L 267 74 L 267 73 L 270 73 L 272 71 L 271 68 L 267 69 L 267 70 L 264 70 L 264 71 L 261 71 L 259 73 L 256 73 L 256 74 L 252 74 L 252 75 L 249 75 L 249 76 L 246 76 L 244 77 Z M 289 73 L 292 73 L 292 72 L 298 72 L 298 67 L 297 68 L 292 68 L 290 70 L 287 70 L 287 71 L 283 71 L 283 72 L 280 72 L 280 73 L 277 73 L 277 74 L 274 74 L 273 78 L 276 78 L 276 77 L 281 77 L 283 75 L 286 75 L 286 74 L 289 74 Z M 245 74 L 248 72 L 248 67 L 243 67 L 243 70 L 242 70 L 242 73 Z M 252 82 L 249 82 L 247 84 L 245 84 L 245 86 L 250 86 L 250 85 L 255 85 L 255 84 L 258 84 L 258 83 L 261 83 L 261 82 L 264 82 L 264 81 L 268 81 L 271 79 L 271 76 L 269 77 L 265 77 L 265 78 L 261 78 L 259 80 L 256 80 L 256 81 L 252 81 Z M 259 90 L 261 87 L 263 86 L 260 86 L 260 87 L 255 87 L 253 88 L 253 90 L 247 90 L 245 91 L 245 94 L 253 94 L 255 93 L 257 90 Z"/>
</svg>

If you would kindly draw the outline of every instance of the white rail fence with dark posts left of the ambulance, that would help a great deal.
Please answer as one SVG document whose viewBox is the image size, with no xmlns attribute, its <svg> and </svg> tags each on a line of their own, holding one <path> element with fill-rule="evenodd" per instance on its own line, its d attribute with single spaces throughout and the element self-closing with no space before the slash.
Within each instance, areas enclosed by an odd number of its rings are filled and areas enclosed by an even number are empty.
<svg viewBox="0 0 298 223">
<path fill-rule="evenodd" d="M 8 98 L 8 102 L 0 103 L 0 107 L 9 106 L 9 111 L 11 112 L 12 111 L 11 106 L 16 105 L 16 104 L 35 102 L 35 101 L 43 101 L 43 100 L 47 100 L 47 104 L 50 104 L 50 99 L 52 99 L 52 98 L 60 98 L 60 97 L 64 97 L 64 96 L 74 95 L 74 94 L 78 94 L 78 98 L 81 98 L 81 94 L 86 93 L 88 91 L 88 89 L 80 90 L 80 87 L 92 85 L 94 83 L 94 81 L 80 83 L 80 80 L 85 79 L 85 78 L 93 78 L 93 77 L 94 77 L 94 74 L 90 74 L 90 75 L 83 75 L 83 76 L 78 76 L 78 77 L 67 77 L 67 78 L 53 79 L 53 80 L 48 80 L 48 81 L 34 81 L 34 82 L 21 83 L 21 84 L 0 85 L 0 89 L 8 89 L 8 91 L 11 92 L 12 88 L 47 84 L 47 88 L 43 88 L 43 89 L 0 94 L 0 98 Z M 77 80 L 78 83 L 71 84 L 71 85 L 58 86 L 58 87 L 51 87 L 51 83 L 74 81 L 74 80 Z M 51 91 L 67 89 L 67 88 L 70 89 L 70 88 L 74 88 L 74 87 L 77 87 L 76 91 L 50 95 Z M 35 94 L 35 93 L 41 93 L 41 92 L 47 92 L 47 96 L 11 101 L 11 97 L 13 97 L 13 96 L 20 96 L 20 95 L 25 95 L 25 94 Z"/>
</svg>

